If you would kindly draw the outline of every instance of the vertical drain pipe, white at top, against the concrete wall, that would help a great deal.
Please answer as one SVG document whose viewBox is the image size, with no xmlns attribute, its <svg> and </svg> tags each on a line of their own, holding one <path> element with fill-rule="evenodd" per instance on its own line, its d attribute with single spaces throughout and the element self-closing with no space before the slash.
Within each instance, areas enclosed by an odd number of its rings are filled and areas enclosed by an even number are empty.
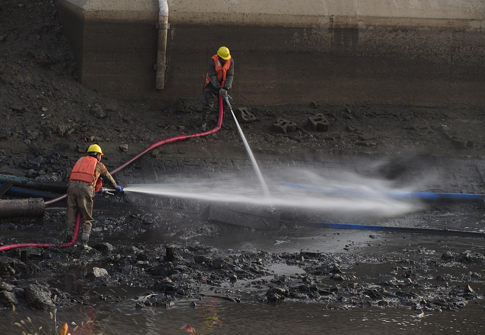
<svg viewBox="0 0 485 335">
<path fill-rule="evenodd" d="M 155 88 L 163 90 L 165 88 L 165 70 L 167 60 L 167 30 L 168 24 L 168 2 L 167 0 L 158 0 L 160 8 L 158 13 L 158 46 L 157 46 L 157 64 L 155 64 Z"/>
</svg>

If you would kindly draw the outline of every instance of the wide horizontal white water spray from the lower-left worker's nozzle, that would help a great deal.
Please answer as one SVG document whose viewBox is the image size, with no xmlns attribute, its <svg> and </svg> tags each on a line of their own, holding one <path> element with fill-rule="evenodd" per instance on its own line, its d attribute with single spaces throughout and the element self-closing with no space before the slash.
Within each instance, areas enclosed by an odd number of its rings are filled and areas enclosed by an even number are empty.
<svg viewBox="0 0 485 335">
<path fill-rule="evenodd" d="M 272 172 L 274 175 L 266 176 L 271 195 L 269 190 L 268 194 L 261 192 L 261 185 L 251 183 L 246 176 L 232 175 L 218 175 L 217 181 L 186 179 L 180 183 L 128 185 L 125 192 L 256 207 L 305 209 L 314 213 L 367 213 L 377 217 L 402 215 L 422 208 L 413 199 L 393 197 L 393 194 L 409 190 L 392 188 L 388 181 L 328 170 L 323 177 L 317 172 L 295 167 L 273 169 Z M 310 187 L 294 187 L 287 182 Z"/>
</svg>

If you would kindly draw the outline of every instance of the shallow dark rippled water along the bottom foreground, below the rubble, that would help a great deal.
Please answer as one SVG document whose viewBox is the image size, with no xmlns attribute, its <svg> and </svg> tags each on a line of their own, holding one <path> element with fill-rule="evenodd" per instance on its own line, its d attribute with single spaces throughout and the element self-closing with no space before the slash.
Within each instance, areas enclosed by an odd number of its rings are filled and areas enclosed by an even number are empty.
<svg viewBox="0 0 485 335">
<path fill-rule="evenodd" d="M 190 304 L 195 303 L 192 307 Z M 58 334 L 49 311 L 2 312 L 0 335 L 22 334 L 32 327 L 43 327 L 41 334 Z M 181 301 L 168 309 L 135 308 L 133 305 L 97 304 L 60 309 L 57 325 L 69 324 L 76 334 L 186 334 L 180 328 L 194 327 L 196 334 L 483 334 L 483 310 L 469 304 L 463 311 L 421 313 L 408 309 L 352 308 L 328 310 L 320 304 L 283 303 L 235 304 L 215 298 Z M 88 322 L 93 321 L 93 322 Z M 73 323 L 74 322 L 74 323 Z M 86 322 L 88 322 L 86 324 Z M 82 323 L 82 326 L 81 326 Z M 73 331 L 78 325 L 79 328 Z M 187 333 L 188 334 L 188 333 Z"/>
</svg>

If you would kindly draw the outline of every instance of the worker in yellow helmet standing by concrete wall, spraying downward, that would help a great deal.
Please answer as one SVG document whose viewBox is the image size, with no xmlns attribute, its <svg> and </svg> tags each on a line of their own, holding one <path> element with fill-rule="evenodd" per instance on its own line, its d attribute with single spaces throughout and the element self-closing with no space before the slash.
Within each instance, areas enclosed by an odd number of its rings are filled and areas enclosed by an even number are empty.
<svg viewBox="0 0 485 335">
<path fill-rule="evenodd" d="M 210 110 L 214 106 L 214 99 L 217 94 L 226 98 L 230 94 L 232 80 L 234 79 L 234 61 L 229 53 L 229 49 L 221 46 L 217 54 L 212 56 L 207 67 L 206 80 L 204 82 L 204 94 L 202 95 L 202 126 L 201 131 L 207 129 L 207 119 Z M 226 102 L 224 101 L 224 106 Z M 228 129 L 223 125 L 223 129 Z"/>
</svg>

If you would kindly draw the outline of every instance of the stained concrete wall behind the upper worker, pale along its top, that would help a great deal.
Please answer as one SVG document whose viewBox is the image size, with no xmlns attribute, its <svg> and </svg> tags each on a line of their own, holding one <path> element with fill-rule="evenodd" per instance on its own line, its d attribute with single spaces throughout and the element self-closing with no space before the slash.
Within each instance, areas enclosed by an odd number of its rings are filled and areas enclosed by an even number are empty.
<svg viewBox="0 0 485 335">
<path fill-rule="evenodd" d="M 221 45 L 242 104 L 485 104 L 484 1 L 168 1 L 164 90 L 158 1 L 55 2 L 81 83 L 153 108 L 200 99 Z"/>
</svg>

